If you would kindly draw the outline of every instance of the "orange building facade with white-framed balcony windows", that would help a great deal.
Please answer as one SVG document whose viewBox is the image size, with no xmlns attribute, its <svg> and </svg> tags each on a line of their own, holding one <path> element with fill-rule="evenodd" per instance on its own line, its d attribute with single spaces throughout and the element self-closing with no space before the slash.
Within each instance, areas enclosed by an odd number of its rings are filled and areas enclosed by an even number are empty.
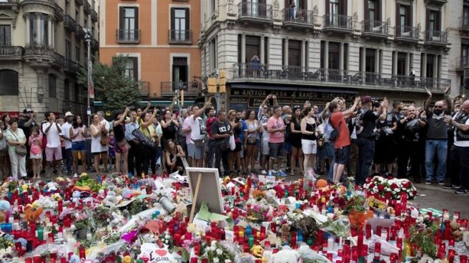
<svg viewBox="0 0 469 263">
<path fill-rule="evenodd" d="M 128 56 L 126 74 L 142 81 L 142 99 L 155 106 L 182 88 L 186 103 L 193 103 L 199 96 L 192 80 L 200 76 L 200 1 L 107 0 L 100 7 L 100 61 Z"/>
</svg>

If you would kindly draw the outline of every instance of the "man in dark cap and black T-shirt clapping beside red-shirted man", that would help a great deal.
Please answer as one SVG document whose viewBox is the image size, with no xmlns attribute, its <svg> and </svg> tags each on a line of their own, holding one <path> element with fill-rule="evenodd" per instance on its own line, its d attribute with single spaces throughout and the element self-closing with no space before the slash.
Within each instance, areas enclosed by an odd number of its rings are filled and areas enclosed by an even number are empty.
<svg viewBox="0 0 469 263">
<path fill-rule="evenodd" d="M 385 119 L 387 113 L 387 99 L 383 99 L 377 111 L 373 111 L 373 99 L 362 97 L 362 109 L 355 116 L 355 132 L 357 134 L 358 164 L 355 181 L 364 184 L 375 155 L 375 128 L 377 119 Z"/>
</svg>

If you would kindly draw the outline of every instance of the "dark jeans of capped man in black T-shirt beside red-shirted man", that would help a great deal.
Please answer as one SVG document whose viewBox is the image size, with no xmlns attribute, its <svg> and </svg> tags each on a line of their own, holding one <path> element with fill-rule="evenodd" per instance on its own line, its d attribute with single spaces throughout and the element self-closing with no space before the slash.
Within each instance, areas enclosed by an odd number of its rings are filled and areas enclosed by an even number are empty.
<svg viewBox="0 0 469 263">
<path fill-rule="evenodd" d="M 365 179 L 368 178 L 373 157 L 375 156 L 375 139 L 359 138 L 357 139 L 357 146 L 358 164 L 355 182 L 361 185 L 365 184 Z M 379 150 L 385 151 L 386 149 Z"/>
</svg>

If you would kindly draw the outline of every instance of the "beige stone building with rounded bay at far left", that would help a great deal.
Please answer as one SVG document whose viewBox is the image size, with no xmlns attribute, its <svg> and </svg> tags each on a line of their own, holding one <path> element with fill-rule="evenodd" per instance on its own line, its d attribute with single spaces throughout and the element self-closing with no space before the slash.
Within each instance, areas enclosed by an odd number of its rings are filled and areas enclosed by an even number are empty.
<svg viewBox="0 0 469 263">
<path fill-rule="evenodd" d="M 0 2 L 0 111 L 26 107 L 86 114 L 87 89 L 76 74 L 87 61 L 84 28 L 97 59 L 98 7 L 91 0 Z M 41 116 L 39 116 L 41 118 Z"/>
</svg>

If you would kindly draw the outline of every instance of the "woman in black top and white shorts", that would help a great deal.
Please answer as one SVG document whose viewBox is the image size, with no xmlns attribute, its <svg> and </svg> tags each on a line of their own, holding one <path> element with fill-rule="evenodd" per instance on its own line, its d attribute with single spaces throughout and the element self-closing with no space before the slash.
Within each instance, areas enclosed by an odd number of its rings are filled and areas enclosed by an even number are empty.
<svg viewBox="0 0 469 263">
<path fill-rule="evenodd" d="M 314 111 L 307 107 L 303 114 L 305 117 L 301 121 L 301 146 L 305 160 L 303 161 L 303 172 L 307 173 L 308 169 L 315 169 L 316 167 L 316 152 L 317 152 L 317 133 L 316 121 L 312 116 Z"/>
</svg>

